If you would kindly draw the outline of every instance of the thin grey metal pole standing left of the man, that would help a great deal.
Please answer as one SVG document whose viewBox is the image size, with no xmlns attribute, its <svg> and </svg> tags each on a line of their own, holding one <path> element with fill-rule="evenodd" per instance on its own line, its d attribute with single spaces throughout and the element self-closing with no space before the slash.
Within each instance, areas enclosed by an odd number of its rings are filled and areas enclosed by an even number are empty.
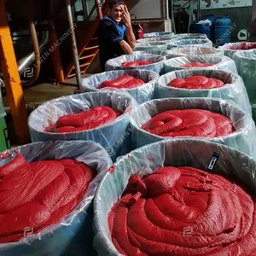
<svg viewBox="0 0 256 256">
<path fill-rule="evenodd" d="M 75 32 L 74 32 L 74 27 L 73 27 L 73 16 L 72 16 L 70 0 L 66 0 L 66 5 L 67 5 L 67 19 L 68 19 L 69 27 L 71 30 L 73 62 L 74 62 L 74 67 L 75 67 L 75 71 L 76 71 L 78 88 L 80 90 L 81 84 L 82 84 L 82 79 L 81 79 L 81 70 L 80 70 L 80 65 L 79 65 L 79 52 L 78 52 L 76 36 L 75 36 Z"/>
</svg>

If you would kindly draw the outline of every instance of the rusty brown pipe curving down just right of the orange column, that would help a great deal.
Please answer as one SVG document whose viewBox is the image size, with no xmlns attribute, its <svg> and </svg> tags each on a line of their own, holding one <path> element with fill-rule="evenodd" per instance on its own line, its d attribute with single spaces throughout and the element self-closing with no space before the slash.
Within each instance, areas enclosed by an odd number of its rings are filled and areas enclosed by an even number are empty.
<svg viewBox="0 0 256 256">
<path fill-rule="evenodd" d="M 26 73 L 26 74 L 31 74 L 32 79 L 29 79 L 27 81 L 22 81 L 21 80 L 22 86 L 29 86 L 29 85 L 35 83 L 38 80 L 40 70 L 41 70 L 38 35 L 37 35 L 35 23 L 31 18 L 28 20 L 28 26 L 29 26 L 29 32 L 30 32 L 31 37 L 32 37 L 32 45 L 33 45 L 33 49 L 34 49 L 33 54 L 35 55 L 35 66 L 34 66 L 35 68 L 32 68 L 31 72 Z"/>
</svg>

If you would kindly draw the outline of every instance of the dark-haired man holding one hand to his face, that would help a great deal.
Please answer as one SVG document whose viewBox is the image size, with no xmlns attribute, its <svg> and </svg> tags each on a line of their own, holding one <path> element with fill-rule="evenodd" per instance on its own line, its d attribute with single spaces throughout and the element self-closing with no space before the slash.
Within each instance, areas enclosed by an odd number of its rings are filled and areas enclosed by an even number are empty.
<svg viewBox="0 0 256 256">
<path fill-rule="evenodd" d="M 132 31 L 131 16 L 124 0 L 110 0 L 108 17 L 104 17 L 98 29 L 98 44 L 102 70 L 105 63 L 120 55 L 131 55 L 136 43 Z"/>
</svg>

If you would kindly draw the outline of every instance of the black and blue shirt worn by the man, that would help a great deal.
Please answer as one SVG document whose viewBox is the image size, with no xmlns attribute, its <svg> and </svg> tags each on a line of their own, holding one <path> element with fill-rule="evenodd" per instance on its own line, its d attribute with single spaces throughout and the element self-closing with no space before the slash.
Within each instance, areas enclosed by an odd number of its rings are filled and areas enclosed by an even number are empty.
<svg viewBox="0 0 256 256">
<path fill-rule="evenodd" d="M 122 22 L 117 24 L 109 17 L 104 17 L 101 20 L 97 36 L 102 70 L 105 70 L 105 63 L 108 60 L 124 55 L 124 51 L 120 47 L 119 42 L 122 40 L 127 42 L 125 30 L 126 27 Z"/>
</svg>

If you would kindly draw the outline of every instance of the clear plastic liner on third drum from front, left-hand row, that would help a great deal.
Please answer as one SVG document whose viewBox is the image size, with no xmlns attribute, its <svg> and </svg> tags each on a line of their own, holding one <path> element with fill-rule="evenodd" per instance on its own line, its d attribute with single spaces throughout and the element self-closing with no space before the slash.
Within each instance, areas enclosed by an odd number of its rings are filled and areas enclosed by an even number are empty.
<svg viewBox="0 0 256 256">
<path fill-rule="evenodd" d="M 149 70 L 113 70 L 105 73 L 92 75 L 88 79 L 82 79 L 82 92 L 100 90 L 97 89 L 97 87 L 100 86 L 102 82 L 118 79 L 125 74 L 128 74 L 135 79 L 142 79 L 145 84 L 143 84 L 143 86 L 129 90 L 124 89 L 124 91 L 130 93 L 131 96 L 133 96 L 139 104 L 142 104 L 143 102 L 148 102 L 153 99 L 156 80 L 159 79 L 160 76 L 158 73 L 154 73 L 153 71 Z M 102 90 L 123 91 L 114 88 L 101 89 L 101 91 Z"/>
</svg>

